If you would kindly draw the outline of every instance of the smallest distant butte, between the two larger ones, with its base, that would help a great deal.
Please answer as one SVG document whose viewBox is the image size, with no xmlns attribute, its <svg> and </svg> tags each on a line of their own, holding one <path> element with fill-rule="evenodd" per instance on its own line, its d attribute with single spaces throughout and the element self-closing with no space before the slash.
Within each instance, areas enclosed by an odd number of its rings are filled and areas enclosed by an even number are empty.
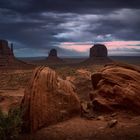
<svg viewBox="0 0 140 140">
<path fill-rule="evenodd" d="M 58 57 L 56 49 L 51 49 L 47 57 L 47 63 L 60 64 L 64 63 L 64 60 Z"/>
</svg>

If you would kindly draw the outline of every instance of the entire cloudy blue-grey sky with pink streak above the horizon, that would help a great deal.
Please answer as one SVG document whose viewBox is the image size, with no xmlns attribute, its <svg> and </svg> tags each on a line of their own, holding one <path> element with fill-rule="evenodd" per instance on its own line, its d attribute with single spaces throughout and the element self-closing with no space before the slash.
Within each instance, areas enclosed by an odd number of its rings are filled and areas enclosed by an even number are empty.
<svg viewBox="0 0 140 140">
<path fill-rule="evenodd" d="M 0 39 L 21 57 L 87 56 L 93 43 L 140 56 L 140 0 L 0 0 Z"/>
</svg>

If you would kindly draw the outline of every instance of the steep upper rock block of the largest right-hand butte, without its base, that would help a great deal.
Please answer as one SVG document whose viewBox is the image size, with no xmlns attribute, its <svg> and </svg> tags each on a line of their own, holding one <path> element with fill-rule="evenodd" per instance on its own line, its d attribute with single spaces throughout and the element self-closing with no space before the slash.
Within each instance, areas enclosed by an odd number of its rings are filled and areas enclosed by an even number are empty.
<svg viewBox="0 0 140 140">
<path fill-rule="evenodd" d="M 108 51 L 105 45 L 103 44 L 95 44 L 90 48 L 90 58 L 93 57 L 107 57 Z"/>
</svg>

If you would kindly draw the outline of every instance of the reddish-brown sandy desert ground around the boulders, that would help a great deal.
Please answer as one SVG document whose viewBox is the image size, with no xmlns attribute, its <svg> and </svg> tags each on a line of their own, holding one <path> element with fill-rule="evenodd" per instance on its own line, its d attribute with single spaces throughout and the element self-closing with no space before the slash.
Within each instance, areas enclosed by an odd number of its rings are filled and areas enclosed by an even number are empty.
<svg viewBox="0 0 140 140">
<path fill-rule="evenodd" d="M 131 61 L 130 61 L 131 60 Z M 119 61 L 134 65 L 140 65 L 140 59 Z M 69 60 L 68 60 L 69 61 Z M 118 59 L 117 59 L 118 61 Z M 35 62 L 34 62 L 35 63 Z M 43 62 L 44 64 L 44 62 Z M 39 65 L 39 63 L 38 63 Z M 52 65 L 50 66 L 64 79 L 76 75 L 77 70 L 88 70 L 92 73 L 100 70 L 103 65 Z M 0 108 L 7 112 L 10 107 L 19 105 L 24 95 L 33 68 L 31 69 L 2 69 L 0 70 Z M 83 94 L 83 93 L 82 93 Z M 84 100 L 85 96 L 78 95 Z M 85 93 L 86 94 L 86 93 Z M 86 97 L 85 97 L 86 100 Z M 116 120 L 115 126 L 109 123 Z M 112 114 L 93 114 L 92 117 L 79 116 L 65 122 L 58 123 L 41 129 L 33 135 L 22 135 L 20 139 L 28 140 L 139 140 L 140 139 L 140 116 L 132 112 L 115 112 Z M 47 137 L 46 137 L 47 136 Z"/>
</svg>

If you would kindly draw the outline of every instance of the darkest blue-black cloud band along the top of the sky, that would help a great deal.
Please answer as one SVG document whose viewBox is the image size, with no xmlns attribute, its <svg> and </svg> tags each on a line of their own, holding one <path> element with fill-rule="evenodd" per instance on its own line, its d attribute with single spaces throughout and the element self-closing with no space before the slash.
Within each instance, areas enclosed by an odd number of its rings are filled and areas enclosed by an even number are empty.
<svg viewBox="0 0 140 140">
<path fill-rule="evenodd" d="M 1 8 L 17 12 L 82 12 L 104 8 L 140 8 L 139 0 L 1 0 Z"/>
</svg>

